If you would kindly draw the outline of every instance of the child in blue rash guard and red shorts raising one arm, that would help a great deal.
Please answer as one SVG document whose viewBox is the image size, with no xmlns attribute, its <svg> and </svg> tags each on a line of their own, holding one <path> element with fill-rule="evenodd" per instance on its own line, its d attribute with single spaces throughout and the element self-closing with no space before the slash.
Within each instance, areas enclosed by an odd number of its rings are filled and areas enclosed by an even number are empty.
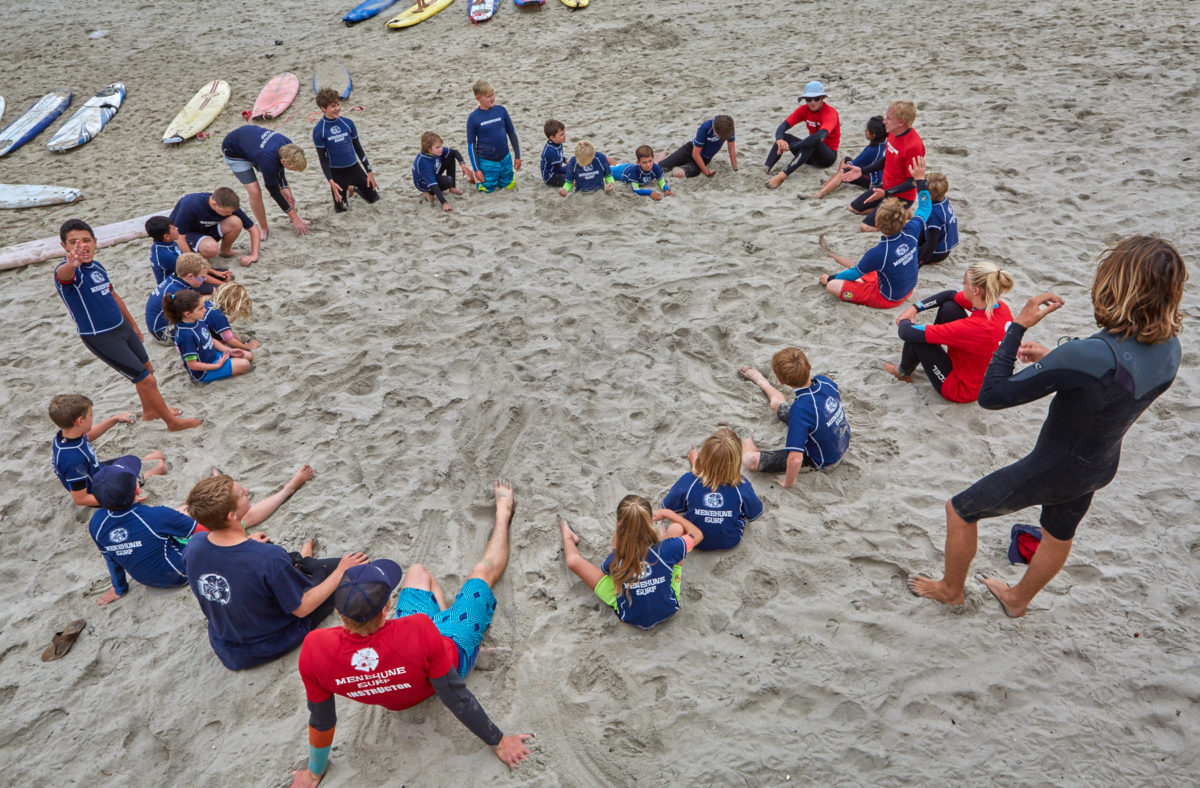
<svg viewBox="0 0 1200 788">
<path fill-rule="evenodd" d="M 908 173 L 917 181 L 916 213 L 910 218 L 908 209 L 899 198 L 883 200 L 875 213 L 875 227 L 883 236 L 875 248 L 853 265 L 850 258 L 830 252 L 829 257 L 839 265 L 850 267 L 833 276 L 821 275 L 821 284 L 829 295 L 876 309 L 900 306 L 912 295 L 920 267 L 917 263 L 919 237 L 930 207 L 924 157 L 917 157 Z"/>
</svg>

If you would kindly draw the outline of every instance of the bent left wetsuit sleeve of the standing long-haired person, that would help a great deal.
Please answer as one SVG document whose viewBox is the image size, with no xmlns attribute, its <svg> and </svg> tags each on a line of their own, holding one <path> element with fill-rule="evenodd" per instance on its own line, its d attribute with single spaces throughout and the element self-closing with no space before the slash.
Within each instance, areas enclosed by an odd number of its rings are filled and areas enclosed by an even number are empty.
<svg viewBox="0 0 1200 788">
<path fill-rule="evenodd" d="M 1013 405 L 1040 399 L 1048 393 L 1076 389 L 1085 380 L 1094 380 L 1097 374 L 1105 372 L 1090 357 L 1087 339 L 1075 339 L 1045 355 L 1038 363 L 1030 365 L 1018 374 L 1013 374 L 1016 365 L 1016 351 L 1025 337 L 1025 326 L 1012 323 L 996 353 L 991 356 L 988 372 L 984 374 L 983 387 L 979 389 L 979 405 L 988 410 L 1001 410 Z M 1106 349 L 1106 348 L 1105 348 Z M 1111 353 L 1109 354 L 1111 356 Z M 1109 360 L 1109 369 L 1115 362 Z M 1086 371 L 1085 371 L 1086 369 Z"/>
</svg>

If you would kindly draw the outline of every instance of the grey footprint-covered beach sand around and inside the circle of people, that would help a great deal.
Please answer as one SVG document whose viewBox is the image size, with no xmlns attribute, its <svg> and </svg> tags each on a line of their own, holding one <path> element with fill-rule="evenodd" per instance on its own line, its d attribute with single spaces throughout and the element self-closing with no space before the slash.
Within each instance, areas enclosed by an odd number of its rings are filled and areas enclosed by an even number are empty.
<svg viewBox="0 0 1200 788">
<path fill-rule="evenodd" d="M 946 172 L 960 219 L 950 260 L 918 293 L 955 287 L 976 259 L 1012 271 L 1008 303 L 1050 289 L 1067 306 L 1031 335 L 1094 330 L 1088 284 L 1105 243 L 1160 233 L 1200 260 L 1192 131 L 1200 52 L 1194 10 L 1033 0 L 967 4 L 594 0 L 571 13 L 503 4 L 469 26 L 455 4 L 407 31 L 347 29 L 350 2 L 215 1 L 101 7 L 20 2 L 0 65 L 5 121 L 49 90 L 76 104 L 122 79 L 128 100 L 91 144 L 0 161 L 5 182 L 79 186 L 73 206 L 7 211 L 0 246 L 169 209 L 235 186 L 218 148 L 259 88 L 320 62 L 354 76 L 346 109 L 383 201 L 335 216 L 312 155 L 307 89 L 269 122 L 310 152 L 292 179 L 307 237 L 271 211 L 262 261 L 236 271 L 263 342 L 245 378 L 197 387 L 174 349 L 149 343 L 168 403 L 206 419 L 168 434 L 121 426 L 102 458 L 163 450 L 151 503 L 175 505 L 217 464 L 259 495 L 304 462 L 316 479 L 264 525 L 296 549 L 362 549 L 422 563 L 454 592 L 491 525 L 494 476 L 517 491 L 512 558 L 485 640 L 504 649 L 469 686 L 533 757 L 509 772 L 437 700 L 403 712 L 338 703 L 325 784 L 686 786 L 1187 784 L 1198 770 L 1200 375 L 1195 285 L 1174 387 L 1130 431 L 1064 571 L 1021 620 L 971 581 L 947 609 L 905 590 L 937 572 L 943 501 L 1033 444 L 1045 401 L 990 413 L 941 401 L 881 368 L 900 343 L 894 313 L 835 302 L 836 269 L 874 243 L 845 211 L 848 187 L 803 199 L 826 173 L 768 191 L 762 160 L 804 82 L 841 113 L 842 152 L 888 101 L 913 100 L 929 166 Z M 397 6 L 398 8 L 398 6 Z M 931 16 L 932 12 L 932 16 Z M 88 34 L 109 32 L 90 40 Z M 152 30 L 152 32 L 151 32 Z M 282 43 L 276 46 L 276 40 Z M 505 194 L 454 198 L 443 215 L 409 179 L 420 134 L 464 145 L 470 84 L 508 107 L 526 168 Z M 234 100 L 208 142 L 160 142 L 205 82 Z M 670 151 L 716 113 L 738 124 L 740 169 L 673 181 L 652 203 L 618 190 L 560 199 L 536 172 L 547 118 L 618 161 Z M 56 126 L 55 126 L 56 127 Z M 240 192 L 240 191 L 239 191 Z M 242 192 L 240 192 L 242 193 Z M 269 205 L 270 201 L 268 200 Z M 140 320 L 152 279 L 144 239 L 106 249 Z M 54 294 L 52 263 L 0 273 L 0 760 L 12 786 L 286 786 L 306 756 L 307 711 L 292 654 L 230 673 L 186 589 L 108 588 L 49 469 L 46 407 L 83 392 L 97 417 L 137 410 L 94 359 Z M 841 387 L 853 439 L 830 473 L 782 491 L 737 549 L 692 554 L 683 609 L 652 632 L 602 609 L 562 560 L 556 512 L 600 561 L 617 501 L 661 500 L 683 455 L 720 420 L 764 447 L 784 429 L 737 367 L 767 369 L 802 347 Z M 1012 522 L 980 528 L 974 571 L 1015 579 Z M 38 656 L 67 621 L 89 626 L 59 662 Z M 331 622 L 331 621 L 330 621 Z M 1190 777 L 1189 777 L 1190 775 Z"/>
</svg>

